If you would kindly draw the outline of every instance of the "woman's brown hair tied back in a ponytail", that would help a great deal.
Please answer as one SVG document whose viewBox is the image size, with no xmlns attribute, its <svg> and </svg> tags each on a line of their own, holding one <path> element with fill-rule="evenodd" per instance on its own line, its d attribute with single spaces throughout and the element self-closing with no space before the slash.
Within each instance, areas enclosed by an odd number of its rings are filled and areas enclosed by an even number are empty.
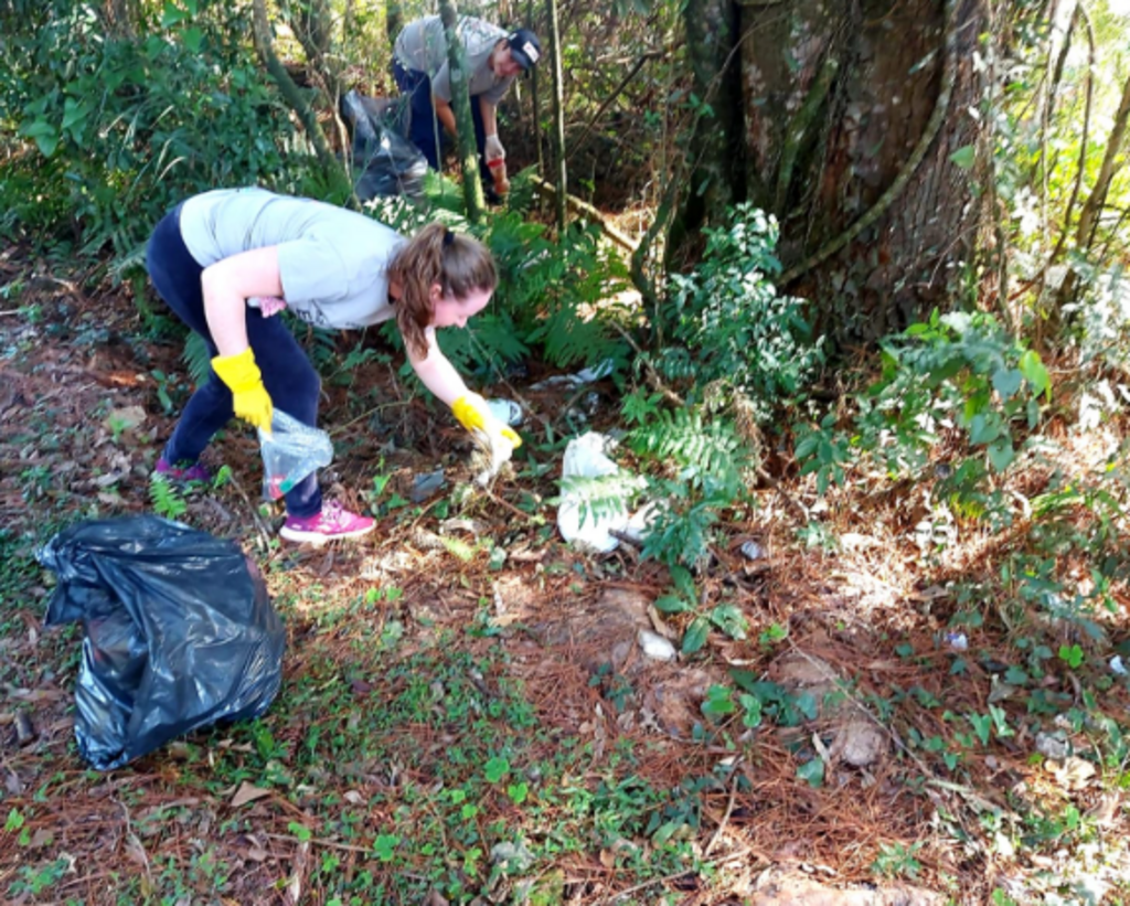
<svg viewBox="0 0 1130 906">
<path fill-rule="evenodd" d="M 400 249 L 389 277 L 400 285 L 397 326 L 408 351 L 417 358 L 427 355 L 424 331 L 435 314 L 434 285 L 438 284 L 441 295 L 462 299 L 477 289 L 493 293 L 498 282 L 487 247 L 440 223 L 428 224 Z"/>
</svg>

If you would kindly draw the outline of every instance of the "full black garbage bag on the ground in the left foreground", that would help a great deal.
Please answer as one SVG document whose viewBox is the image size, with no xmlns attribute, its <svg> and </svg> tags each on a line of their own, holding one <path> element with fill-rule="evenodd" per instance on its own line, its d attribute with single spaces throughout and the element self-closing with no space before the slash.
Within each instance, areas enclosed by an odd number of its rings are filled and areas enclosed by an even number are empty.
<svg viewBox="0 0 1130 906">
<path fill-rule="evenodd" d="M 59 585 L 46 625 L 80 620 L 75 735 L 99 770 L 278 694 L 286 634 L 233 541 L 158 516 L 84 522 L 38 554 Z"/>
</svg>

